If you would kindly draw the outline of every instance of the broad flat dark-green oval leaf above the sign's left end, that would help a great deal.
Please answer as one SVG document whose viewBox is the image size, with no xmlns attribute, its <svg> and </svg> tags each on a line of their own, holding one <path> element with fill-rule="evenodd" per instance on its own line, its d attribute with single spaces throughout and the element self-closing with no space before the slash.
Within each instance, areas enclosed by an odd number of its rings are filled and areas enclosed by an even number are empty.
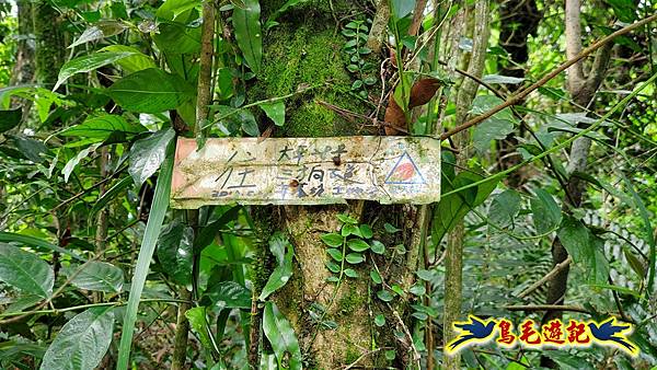
<svg viewBox="0 0 657 370">
<path fill-rule="evenodd" d="M 114 82 L 107 93 L 126 111 L 161 113 L 174 109 L 185 97 L 184 81 L 158 68 L 149 68 L 128 74 Z"/>
</svg>

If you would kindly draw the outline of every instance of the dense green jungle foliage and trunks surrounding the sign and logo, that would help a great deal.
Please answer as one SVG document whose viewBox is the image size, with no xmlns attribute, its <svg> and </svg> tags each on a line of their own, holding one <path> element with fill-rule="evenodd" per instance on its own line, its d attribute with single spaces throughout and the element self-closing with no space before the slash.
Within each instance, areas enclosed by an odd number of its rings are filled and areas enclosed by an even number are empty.
<svg viewBox="0 0 657 370">
<path fill-rule="evenodd" d="M 657 369 L 653 0 L 0 0 L 1 369 Z M 441 142 L 441 200 L 169 207 L 176 138 Z M 631 323 L 639 354 L 475 314 Z"/>
</svg>

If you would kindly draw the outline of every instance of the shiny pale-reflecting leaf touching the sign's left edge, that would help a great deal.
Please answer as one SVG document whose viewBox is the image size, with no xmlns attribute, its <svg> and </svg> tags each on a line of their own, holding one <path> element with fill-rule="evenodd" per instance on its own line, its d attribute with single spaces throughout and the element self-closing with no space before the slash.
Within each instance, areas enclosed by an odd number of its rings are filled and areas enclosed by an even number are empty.
<svg viewBox="0 0 657 370">
<path fill-rule="evenodd" d="M 158 171 L 166 155 L 166 148 L 174 137 L 173 129 L 168 128 L 148 138 L 137 140 L 130 148 L 128 173 L 132 176 L 137 186 L 141 186 L 148 177 Z"/>
</svg>

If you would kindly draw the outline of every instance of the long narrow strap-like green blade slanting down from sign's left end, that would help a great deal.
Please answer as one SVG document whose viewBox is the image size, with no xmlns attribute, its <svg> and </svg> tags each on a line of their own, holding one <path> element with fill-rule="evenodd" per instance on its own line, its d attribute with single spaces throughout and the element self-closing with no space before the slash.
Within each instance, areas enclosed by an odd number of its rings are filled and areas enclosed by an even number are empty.
<svg viewBox="0 0 657 370">
<path fill-rule="evenodd" d="M 153 195 L 152 208 L 148 215 L 143 240 L 139 248 L 137 265 L 135 266 L 135 275 L 130 286 L 130 296 L 123 322 L 123 333 L 120 335 L 120 344 L 118 347 L 118 369 L 127 369 L 130 359 L 130 347 L 132 345 L 132 333 L 135 332 L 135 322 L 137 321 L 137 311 L 139 309 L 139 300 L 143 291 L 143 285 L 148 275 L 151 258 L 158 243 L 158 236 L 162 229 L 164 216 L 169 208 L 169 195 L 171 190 L 171 175 L 173 173 L 173 150 L 174 146 L 166 151 L 166 160 L 162 164 L 162 171 L 155 184 L 155 194 Z"/>
</svg>

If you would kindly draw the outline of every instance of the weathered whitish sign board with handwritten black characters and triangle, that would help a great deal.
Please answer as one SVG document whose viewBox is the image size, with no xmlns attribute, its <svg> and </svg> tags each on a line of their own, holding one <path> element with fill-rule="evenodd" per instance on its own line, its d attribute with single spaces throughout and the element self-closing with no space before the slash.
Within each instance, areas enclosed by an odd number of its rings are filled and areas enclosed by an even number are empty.
<svg viewBox="0 0 657 370">
<path fill-rule="evenodd" d="M 220 138 L 196 148 L 194 139 L 177 141 L 174 208 L 440 198 L 440 142 L 433 138 Z"/>
</svg>

